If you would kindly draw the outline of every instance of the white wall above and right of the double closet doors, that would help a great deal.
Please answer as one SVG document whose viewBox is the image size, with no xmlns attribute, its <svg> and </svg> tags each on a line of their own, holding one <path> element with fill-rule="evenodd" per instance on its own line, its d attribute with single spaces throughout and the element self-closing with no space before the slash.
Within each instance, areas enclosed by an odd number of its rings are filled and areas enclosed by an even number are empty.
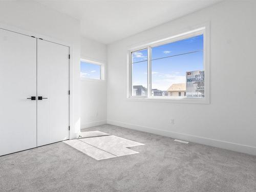
<svg viewBox="0 0 256 192">
<path fill-rule="evenodd" d="M 71 138 L 80 132 L 80 22 L 34 1 L 0 1 L 0 23 L 68 42 L 71 61 Z"/>
</svg>

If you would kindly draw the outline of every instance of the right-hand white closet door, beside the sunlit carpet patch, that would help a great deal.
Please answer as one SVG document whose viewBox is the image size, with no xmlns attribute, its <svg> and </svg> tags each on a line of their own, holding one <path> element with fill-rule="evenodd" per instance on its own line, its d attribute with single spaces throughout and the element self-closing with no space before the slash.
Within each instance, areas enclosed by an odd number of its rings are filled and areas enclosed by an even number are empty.
<svg viewBox="0 0 256 192">
<path fill-rule="evenodd" d="M 37 40 L 37 95 L 37 146 L 68 139 L 69 47 Z"/>
</svg>

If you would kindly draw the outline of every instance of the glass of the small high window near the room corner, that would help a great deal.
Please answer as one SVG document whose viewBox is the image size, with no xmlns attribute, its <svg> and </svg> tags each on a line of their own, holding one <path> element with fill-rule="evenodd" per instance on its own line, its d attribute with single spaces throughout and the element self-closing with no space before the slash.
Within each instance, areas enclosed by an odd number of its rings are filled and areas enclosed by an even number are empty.
<svg viewBox="0 0 256 192">
<path fill-rule="evenodd" d="M 101 66 L 89 62 L 80 61 L 80 77 L 100 79 Z"/>
</svg>

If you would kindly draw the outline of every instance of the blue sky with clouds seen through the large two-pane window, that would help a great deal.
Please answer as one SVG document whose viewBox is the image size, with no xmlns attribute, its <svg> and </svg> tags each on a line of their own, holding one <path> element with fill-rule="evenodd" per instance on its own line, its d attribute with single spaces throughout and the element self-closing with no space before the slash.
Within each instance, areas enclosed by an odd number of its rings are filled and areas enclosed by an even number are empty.
<svg viewBox="0 0 256 192">
<path fill-rule="evenodd" d="M 147 87 L 147 50 L 133 52 L 132 62 L 133 85 Z M 203 69 L 203 35 L 152 48 L 152 89 L 167 91 L 173 83 L 186 82 L 186 71 Z"/>
</svg>

